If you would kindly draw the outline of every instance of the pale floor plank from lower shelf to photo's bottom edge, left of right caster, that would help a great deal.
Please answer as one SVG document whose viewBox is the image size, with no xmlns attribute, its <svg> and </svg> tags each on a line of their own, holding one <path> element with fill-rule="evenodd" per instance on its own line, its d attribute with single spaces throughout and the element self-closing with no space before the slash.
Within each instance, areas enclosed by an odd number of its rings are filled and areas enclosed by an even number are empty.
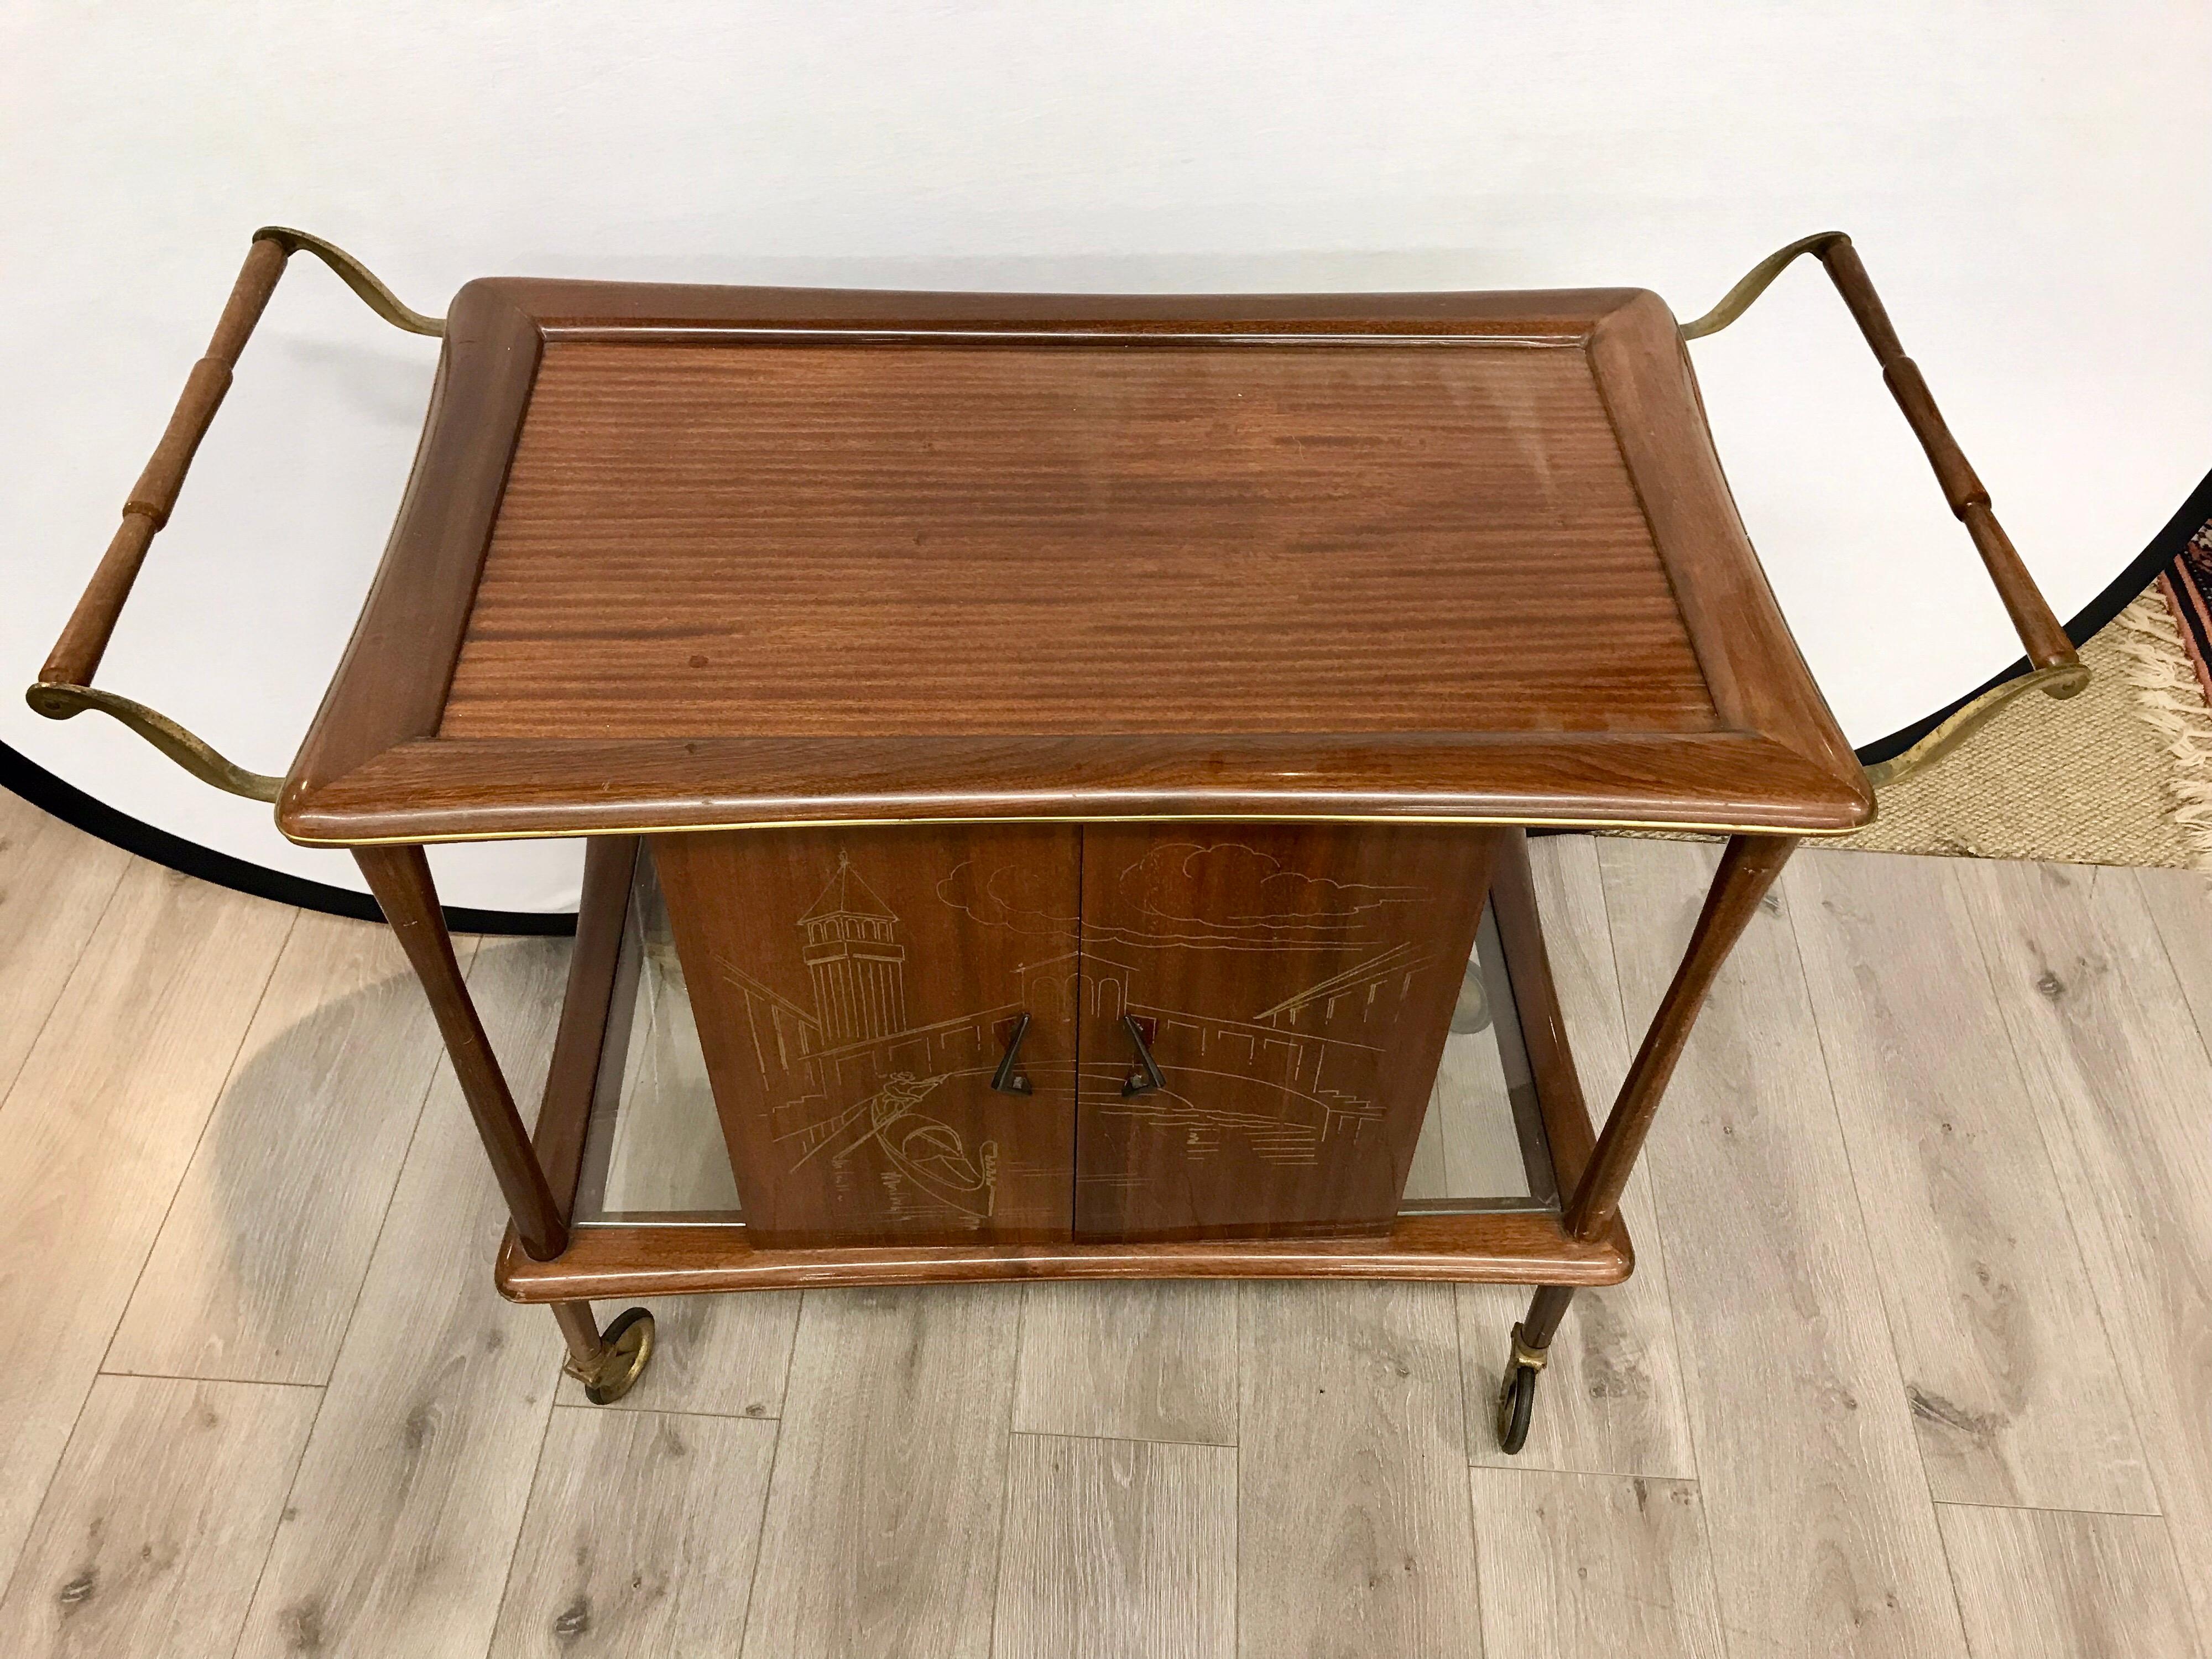
<svg viewBox="0 0 2212 1659">
<path fill-rule="evenodd" d="M 1239 1650 L 1473 1652 L 1451 1287 L 1241 1292 Z"/>
</svg>

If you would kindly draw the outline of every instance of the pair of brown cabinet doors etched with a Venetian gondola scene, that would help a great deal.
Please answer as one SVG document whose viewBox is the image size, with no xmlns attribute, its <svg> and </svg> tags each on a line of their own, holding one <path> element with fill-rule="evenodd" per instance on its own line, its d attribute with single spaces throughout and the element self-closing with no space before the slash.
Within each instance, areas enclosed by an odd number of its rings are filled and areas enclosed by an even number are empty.
<svg viewBox="0 0 2212 1659">
<path fill-rule="evenodd" d="M 657 836 L 752 1241 L 1387 1234 L 1502 838 Z"/>
</svg>

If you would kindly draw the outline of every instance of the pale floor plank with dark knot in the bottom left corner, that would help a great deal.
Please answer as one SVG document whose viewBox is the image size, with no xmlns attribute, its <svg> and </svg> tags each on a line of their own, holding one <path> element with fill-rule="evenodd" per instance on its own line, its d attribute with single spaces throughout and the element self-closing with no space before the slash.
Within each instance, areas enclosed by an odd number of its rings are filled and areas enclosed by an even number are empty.
<svg viewBox="0 0 2212 1659">
<path fill-rule="evenodd" d="M 230 1652 L 319 1400 L 100 1378 L 0 1601 L 0 1652 Z"/>
</svg>

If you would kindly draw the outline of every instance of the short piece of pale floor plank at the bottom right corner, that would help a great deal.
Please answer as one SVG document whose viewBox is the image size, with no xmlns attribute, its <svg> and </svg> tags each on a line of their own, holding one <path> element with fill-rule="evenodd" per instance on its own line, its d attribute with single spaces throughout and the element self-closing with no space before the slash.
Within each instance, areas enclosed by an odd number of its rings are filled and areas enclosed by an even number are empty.
<svg viewBox="0 0 2212 1659">
<path fill-rule="evenodd" d="M 2174 1544 L 2157 1515 L 1940 1504 L 1973 1659 L 2194 1659 Z"/>
</svg>

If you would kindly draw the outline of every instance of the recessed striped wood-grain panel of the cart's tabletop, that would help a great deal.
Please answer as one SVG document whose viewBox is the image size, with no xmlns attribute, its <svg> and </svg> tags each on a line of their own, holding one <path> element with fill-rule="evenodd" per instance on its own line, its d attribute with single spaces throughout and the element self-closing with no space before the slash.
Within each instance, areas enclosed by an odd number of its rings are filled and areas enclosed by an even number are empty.
<svg viewBox="0 0 2212 1659">
<path fill-rule="evenodd" d="M 1714 723 L 1575 349 L 555 341 L 438 732 Z"/>
</svg>

